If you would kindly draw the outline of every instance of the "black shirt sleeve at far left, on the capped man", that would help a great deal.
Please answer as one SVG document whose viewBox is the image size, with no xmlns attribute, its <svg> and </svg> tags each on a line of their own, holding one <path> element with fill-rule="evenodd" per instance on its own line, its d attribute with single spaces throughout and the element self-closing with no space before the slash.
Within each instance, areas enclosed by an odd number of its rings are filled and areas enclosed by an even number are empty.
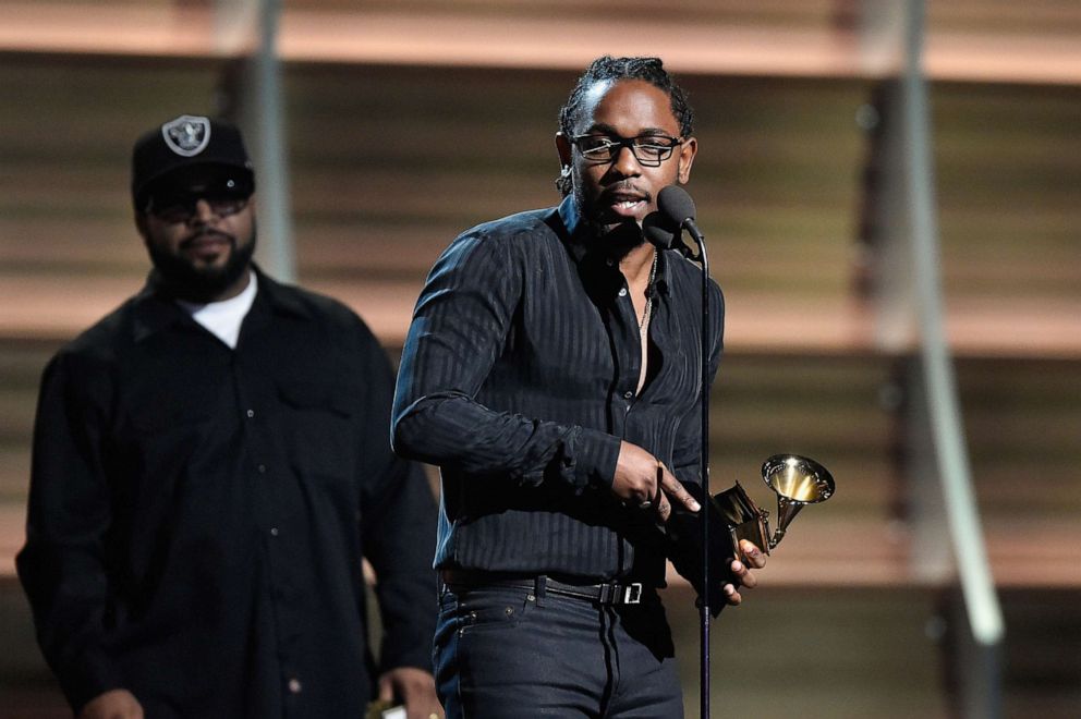
<svg viewBox="0 0 1081 719">
<path fill-rule="evenodd" d="M 105 403 L 94 395 L 106 380 L 104 373 L 83 377 L 68 365 L 58 355 L 41 382 L 26 545 L 16 568 L 41 651 L 78 711 L 123 684 L 104 642 L 110 493 L 100 448 Z"/>
</svg>

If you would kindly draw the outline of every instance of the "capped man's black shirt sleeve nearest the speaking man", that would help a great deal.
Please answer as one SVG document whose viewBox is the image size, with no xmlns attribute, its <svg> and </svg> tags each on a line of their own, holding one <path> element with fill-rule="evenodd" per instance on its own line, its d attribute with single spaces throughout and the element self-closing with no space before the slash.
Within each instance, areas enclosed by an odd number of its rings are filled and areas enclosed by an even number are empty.
<svg viewBox="0 0 1081 719">
<path fill-rule="evenodd" d="M 379 669 L 416 667 L 430 672 L 437 613 L 435 498 L 421 465 L 390 449 L 393 371 L 375 338 L 366 330 L 364 336 L 361 532 L 364 556 L 376 573 L 382 621 Z"/>
</svg>

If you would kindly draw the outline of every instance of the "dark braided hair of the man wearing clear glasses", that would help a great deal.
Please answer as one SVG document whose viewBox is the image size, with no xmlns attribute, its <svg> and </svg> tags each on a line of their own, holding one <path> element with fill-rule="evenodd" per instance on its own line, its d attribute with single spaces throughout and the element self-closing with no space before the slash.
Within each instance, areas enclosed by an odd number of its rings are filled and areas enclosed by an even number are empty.
<svg viewBox="0 0 1081 719">
<path fill-rule="evenodd" d="M 567 103 L 559 109 L 560 132 L 568 138 L 574 135 L 574 124 L 582 111 L 582 101 L 593 85 L 620 80 L 641 80 L 664 90 L 671 101 L 680 134 L 683 137 L 693 134 L 694 111 L 687 101 L 687 92 L 668 74 L 660 58 L 612 58 L 608 54 L 597 58 L 586 68 L 567 98 Z M 566 172 L 556 179 L 556 187 L 563 196 L 571 193 L 571 184 L 570 174 Z"/>
</svg>

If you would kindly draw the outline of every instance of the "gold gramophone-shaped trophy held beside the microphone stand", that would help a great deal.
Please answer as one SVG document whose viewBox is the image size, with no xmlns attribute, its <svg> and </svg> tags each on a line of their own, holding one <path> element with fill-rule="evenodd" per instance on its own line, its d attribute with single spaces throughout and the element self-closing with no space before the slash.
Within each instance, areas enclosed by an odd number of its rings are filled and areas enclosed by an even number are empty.
<svg viewBox="0 0 1081 719">
<path fill-rule="evenodd" d="M 755 507 L 736 483 L 714 496 L 731 538 L 732 557 L 739 556 L 740 539 L 749 539 L 767 555 L 780 544 L 792 523 L 807 504 L 824 502 L 834 495 L 834 477 L 826 467 L 799 454 L 774 454 L 762 464 L 762 479 L 777 495 L 777 531 L 769 536 L 769 512 Z"/>
</svg>

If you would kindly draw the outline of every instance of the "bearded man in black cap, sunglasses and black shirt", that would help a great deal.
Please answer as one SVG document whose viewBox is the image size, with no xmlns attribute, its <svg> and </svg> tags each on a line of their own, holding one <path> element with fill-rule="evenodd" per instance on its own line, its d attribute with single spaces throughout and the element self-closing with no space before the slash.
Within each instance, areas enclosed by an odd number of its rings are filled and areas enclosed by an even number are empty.
<svg viewBox="0 0 1081 719">
<path fill-rule="evenodd" d="M 441 716 L 435 507 L 388 442 L 393 379 L 338 302 L 252 264 L 239 131 L 133 154 L 146 288 L 49 363 L 19 574 L 80 717 Z M 382 619 L 367 650 L 362 555 Z"/>
</svg>

